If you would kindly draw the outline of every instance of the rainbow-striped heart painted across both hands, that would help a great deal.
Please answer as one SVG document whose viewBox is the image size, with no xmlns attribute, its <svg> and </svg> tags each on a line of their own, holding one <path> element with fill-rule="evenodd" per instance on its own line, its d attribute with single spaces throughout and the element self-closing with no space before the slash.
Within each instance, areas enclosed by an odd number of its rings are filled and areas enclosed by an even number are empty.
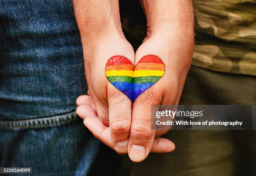
<svg viewBox="0 0 256 176">
<path fill-rule="evenodd" d="M 135 67 L 123 56 L 113 56 L 106 64 L 106 76 L 118 90 L 134 102 L 164 75 L 164 62 L 157 56 L 144 56 Z"/>
</svg>

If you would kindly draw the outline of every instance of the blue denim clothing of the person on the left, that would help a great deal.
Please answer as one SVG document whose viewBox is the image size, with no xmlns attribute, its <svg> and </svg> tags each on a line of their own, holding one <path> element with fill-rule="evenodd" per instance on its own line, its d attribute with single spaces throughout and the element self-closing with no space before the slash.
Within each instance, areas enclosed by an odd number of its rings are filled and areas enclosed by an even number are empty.
<svg viewBox="0 0 256 176">
<path fill-rule="evenodd" d="M 71 0 L 0 0 L 0 167 L 87 174 L 100 143 L 74 113 L 85 83 Z"/>
</svg>

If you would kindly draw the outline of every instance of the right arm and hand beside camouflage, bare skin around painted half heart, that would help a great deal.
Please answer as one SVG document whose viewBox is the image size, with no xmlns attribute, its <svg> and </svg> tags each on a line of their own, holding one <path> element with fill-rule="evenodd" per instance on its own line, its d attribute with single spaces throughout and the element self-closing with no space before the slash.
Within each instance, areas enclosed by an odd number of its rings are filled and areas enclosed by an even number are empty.
<svg viewBox="0 0 256 176">
<path fill-rule="evenodd" d="M 141 0 L 141 4 L 148 31 L 135 64 L 146 55 L 156 55 L 164 62 L 165 73 L 133 103 L 128 155 L 136 162 L 146 159 L 154 138 L 167 132 L 151 130 L 151 105 L 179 103 L 194 46 L 191 0 Z"/>
</svg>

